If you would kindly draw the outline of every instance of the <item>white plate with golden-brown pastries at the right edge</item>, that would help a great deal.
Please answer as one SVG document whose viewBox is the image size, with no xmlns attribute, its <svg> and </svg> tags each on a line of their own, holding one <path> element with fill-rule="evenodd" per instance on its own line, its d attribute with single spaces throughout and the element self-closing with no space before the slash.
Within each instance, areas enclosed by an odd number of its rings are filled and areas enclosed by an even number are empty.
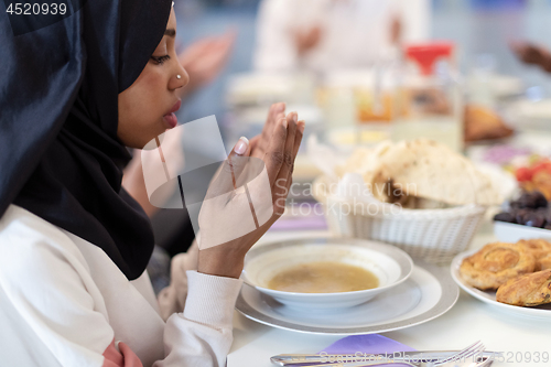
<svg viewBox="0 0 551 367">
<path fill-rule="evenodd" d="M 551 320 L 551 242 L 493 242 L 457 255 L 452 278 L 465 292 L 503 311 Z"/>
</svg>

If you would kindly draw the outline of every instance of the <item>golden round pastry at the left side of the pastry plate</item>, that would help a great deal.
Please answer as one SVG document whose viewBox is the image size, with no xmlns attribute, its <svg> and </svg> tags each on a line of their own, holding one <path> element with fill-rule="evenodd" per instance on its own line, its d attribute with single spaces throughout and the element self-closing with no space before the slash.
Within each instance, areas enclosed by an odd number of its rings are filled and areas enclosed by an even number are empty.
<svg viewBox="0 0 551 367">
<path fill-rule="evenodd" d="M 494 242 L 465 258 L 461 277 L 479 290 L 495 290 L 509 279 L 533 272 L 536 259 L 525 245 Z"/>
</svg>

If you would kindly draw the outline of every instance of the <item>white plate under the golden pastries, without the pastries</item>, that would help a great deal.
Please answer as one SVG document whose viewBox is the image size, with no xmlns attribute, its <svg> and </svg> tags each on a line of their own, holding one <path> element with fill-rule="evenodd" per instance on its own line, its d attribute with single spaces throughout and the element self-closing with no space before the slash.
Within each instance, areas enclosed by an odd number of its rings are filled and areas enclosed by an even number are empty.
<svg viewBox="0 0 551 367">
<path fill-rule="evenodd" d="M 457 285 L 460 285 L 465 292 L 473 295 L 474 298 L 483 302 L 486 302 L 488 304 L 491 304 L 493 306 L 496 306 L 497 309 L 500 309 L 505 312 L 531 319 L 539 319 L 545 321 L 551 320 L 551 304 L 544 304 L 536 307 L 514 306 L 510 304 L 497 302 L 496 292 L 480 291 L 474 287 L 468 285 L 460 276 L 460 267 L 464 258 L 475 253 L 476 251 L 478 250 L 462 252 L 453 259 L 451 272 L 452 272 L 452 278 L 457 283 Z"/>
</svg>

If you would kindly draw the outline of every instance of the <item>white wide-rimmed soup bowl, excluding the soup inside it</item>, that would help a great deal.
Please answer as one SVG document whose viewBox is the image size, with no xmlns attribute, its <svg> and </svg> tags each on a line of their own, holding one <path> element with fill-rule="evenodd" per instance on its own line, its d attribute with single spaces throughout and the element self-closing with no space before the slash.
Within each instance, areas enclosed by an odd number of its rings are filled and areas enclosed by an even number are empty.
<svg viewBox="0 0 551 367">
<path fill-rule="evenodd" d="M 379 285 L 353 292 L 299 293 L 277 291 L 268 283 L 278 273 L 300 265 L 338 262 L 370 271 Z M 413 271 L 408 253 L 392 245 L 352 238 L 307 238 L 253 247 L 245 258 L 241 279 L 264 295 L 292 307 L 350 307 L 406 281 Z"/>
</svg>

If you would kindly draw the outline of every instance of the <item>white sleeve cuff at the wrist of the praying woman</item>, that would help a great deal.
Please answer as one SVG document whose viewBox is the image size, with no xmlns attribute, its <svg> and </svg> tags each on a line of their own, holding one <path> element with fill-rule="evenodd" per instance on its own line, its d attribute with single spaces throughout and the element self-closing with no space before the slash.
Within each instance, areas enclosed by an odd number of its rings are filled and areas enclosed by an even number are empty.
<svg viewBox="0 0 551 367">
<path fill-rule="evenodd" d="M 231 327 L 234 307 L 242 280 L 186 271 L 187 300 L 184 317 L 210 327 Z"/>
</svg>

